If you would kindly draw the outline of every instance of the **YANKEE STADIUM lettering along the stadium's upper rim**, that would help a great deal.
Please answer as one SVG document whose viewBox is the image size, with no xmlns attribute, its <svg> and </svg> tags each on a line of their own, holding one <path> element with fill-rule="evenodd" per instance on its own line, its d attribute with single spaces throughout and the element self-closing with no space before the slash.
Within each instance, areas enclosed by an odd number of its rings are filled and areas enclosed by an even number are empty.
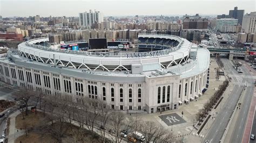
<svg viewBox="0 0 256 143">
<path fill-rule="evenodd" d="M 145 58 L 148 56 L 161 56 L 161 55 L 168 55 L 168 54 L 170 54 L 170 50 L 142 52 L 142 53 L 126 53 L 126 58 Z"/>
</svg>

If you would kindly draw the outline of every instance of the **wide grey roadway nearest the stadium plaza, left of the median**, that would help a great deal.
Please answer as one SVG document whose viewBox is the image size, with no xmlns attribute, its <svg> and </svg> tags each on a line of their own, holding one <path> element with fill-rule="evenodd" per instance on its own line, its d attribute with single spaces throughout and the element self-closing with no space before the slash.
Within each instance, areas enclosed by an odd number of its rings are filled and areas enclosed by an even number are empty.
<svg viewBox="0 0 256 143">
<path fill-rule="evenodd" d="M 230 77 L 232 77 L 232 82 L 241 82 L 244 83 L 247 78 L 244 78 L 240 74 L 237 73 L 237 71 L 234 70 L 232 67 L 231 61 L 228 59 L 222 59 L 225 72 L 228 74 Z M 204 139 L 204 142 L 206 140 L 210 142 L 219 142 L 220 139 L 222 138 L 225 128 L 228 124 L 228 121 L 230 120 L 230 117 L 233 113 L 234 108 L 236 108 L 237 102 L 239 100 L 239 97 L 241 95 L 242 90 L 244 90 L 243 85 L 234 85 L 234 88 L 230 95 L 228 96 L 225 104 L 223 105 L 223 109 L 218 113 L 217 117 L 215 118 L 210 130 L 206 134 L 206 137 Z M 245 120 L 245 119 L 244 119 Z M 242 136 L 243 132 L 241 132 Z M 237 142 L 237 141 L 235 141 Z"/>
</svg>

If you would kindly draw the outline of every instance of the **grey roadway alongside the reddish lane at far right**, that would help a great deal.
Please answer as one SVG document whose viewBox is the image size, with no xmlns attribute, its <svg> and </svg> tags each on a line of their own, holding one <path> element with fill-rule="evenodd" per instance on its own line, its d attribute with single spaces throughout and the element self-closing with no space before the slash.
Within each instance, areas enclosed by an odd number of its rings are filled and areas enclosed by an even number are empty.
<svg viewBox="0 0 256 143">
<path fill-rule="evenodd" d="M 244 73 L 241 75 L 243 80 L 245 80 L 248 83 L 254 83 L 253 76 L 251 76 L 250 73 L 248 73 L 248 69 L 245 66 L 242 66 L 242 71 Z M 241 109 L 237 110 L 239 112 L 239 115 L 237 117 L 237 121 L 234 126 L 234 130 L 232 132 L 232 136 L 230 141 L 231 142 L 242 142 L 242 136 L 244 135 L 245 125 L 246 125 L 246 118 L 248 115 L 248 110 L 250 108 L 250 103 L 252 101 L 254 93 L 254 87 L 246 87 L 245 94 L 243 95 L 244 100 L 241 103 Z"/>
</svg>

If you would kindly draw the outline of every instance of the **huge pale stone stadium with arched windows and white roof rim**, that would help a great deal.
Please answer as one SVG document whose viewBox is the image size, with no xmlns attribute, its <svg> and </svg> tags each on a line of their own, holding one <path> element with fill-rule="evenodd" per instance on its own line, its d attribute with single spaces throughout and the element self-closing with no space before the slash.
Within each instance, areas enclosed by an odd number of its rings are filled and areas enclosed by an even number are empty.
<svg viewBox="0 0 256 143">
<path fill-rule="evenodd" d="M 175 110 L 208 87 L 210 52 L 173 35 L 139 34 L 138 52 L 52 49 L 32 39 L 0 60 L 1 80 L 83 103 L 100 99 L 114 110 Z"/>
</svg>

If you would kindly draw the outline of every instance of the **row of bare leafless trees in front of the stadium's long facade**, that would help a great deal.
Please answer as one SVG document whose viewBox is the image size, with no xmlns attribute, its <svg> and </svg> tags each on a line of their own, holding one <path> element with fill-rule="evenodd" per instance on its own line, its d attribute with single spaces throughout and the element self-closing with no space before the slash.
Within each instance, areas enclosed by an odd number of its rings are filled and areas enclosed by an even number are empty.
<svg viewBox="0 0 256 143">
<path fill-rule="evenodd" d="M 79 138 L 73 137 L 76 142 L 85 142 L 83 134 L 87 131 L 92 134 L 99 134 L 100 131 L 102 142 L 121 142 L 124 139 L 121 135 L 122 130 L 130 130 L 132 137 L 134 137 L 132 132 L 141 132 L 145 136 L 146 142 L 181 142 L 174 138 L 172 132 L 161 125 L 153 121 L 142 120 L 137 114 L 135 117 L 125 116 L 124 112 L 112 110 L 105 101 L 99 98 L 84 97 L 84 102 L 76 103 L 70 98 L 65 98 L 70 95 L 59 98 L 29 88 L 20 88 L 14 95 L 17 98 L 23 119 L 28 115 L 29 106 L 35 108 L 35 113 L 37 113 L 37 109 L 42 110 L 48 119 L 42 130 L 45 131 L 44 133 L 50 133 L 58 142 L 63 142 L 68 129 L 73 131 L 74 135 L 77 134 L 76 132 L 82 134 Z M 72 124 L 75 122 L 78 131 L 73 130 Z"/>
</svg>

